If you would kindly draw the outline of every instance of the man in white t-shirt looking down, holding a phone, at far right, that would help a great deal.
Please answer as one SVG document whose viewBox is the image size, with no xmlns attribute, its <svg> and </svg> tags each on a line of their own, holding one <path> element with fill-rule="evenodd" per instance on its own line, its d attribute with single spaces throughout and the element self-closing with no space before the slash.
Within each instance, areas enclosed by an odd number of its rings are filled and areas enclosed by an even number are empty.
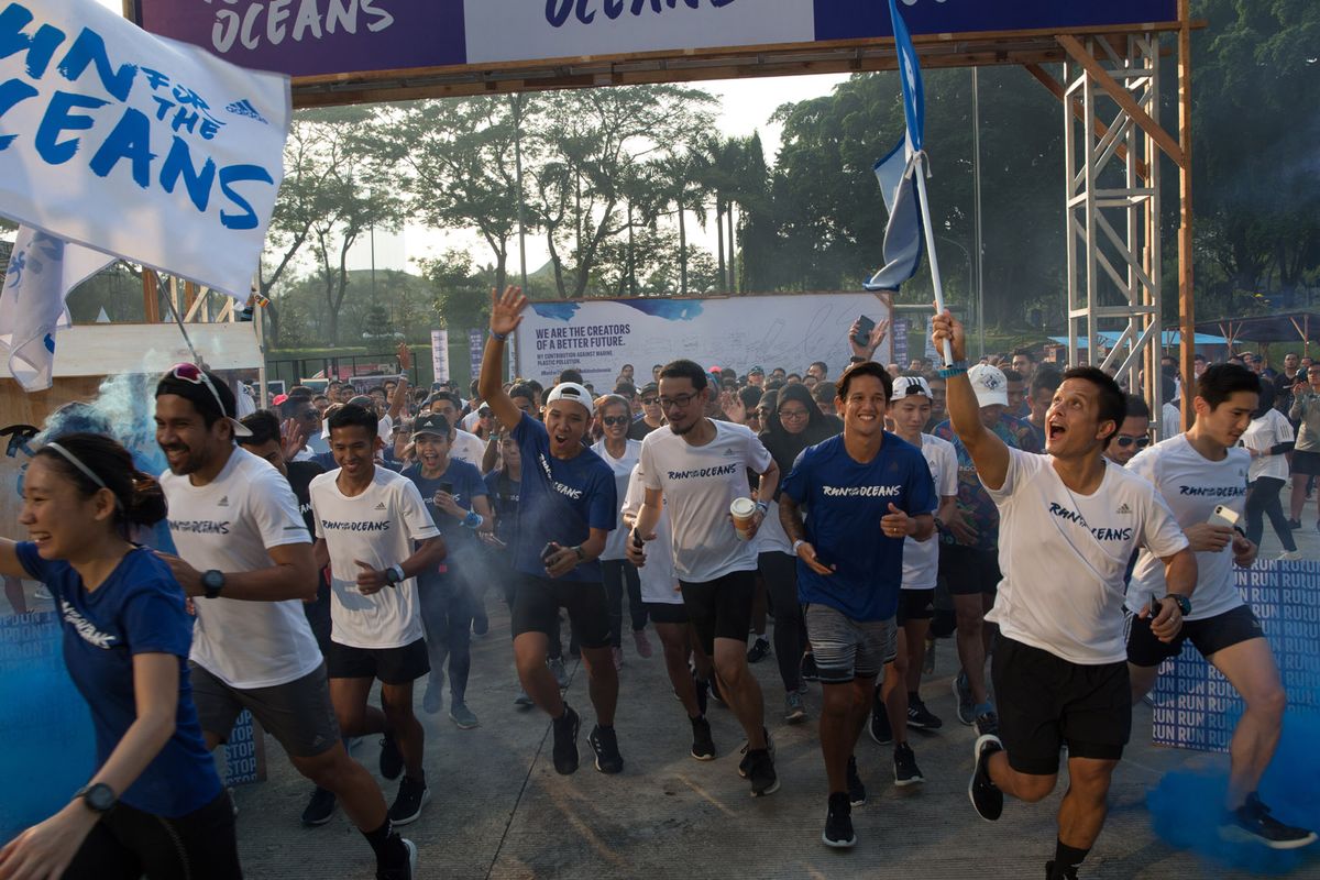
<svg viewBox="0 0 1320 880">
<path fill-rule="evenodd" d="M 1222 831 L 1275 850 L 1315 842 L 1305 829 L 1283 825 L 1261 803 L 1257 786 L 1283 728 L 1287 697 L 1279 668 L 1261 621 L 1242 600 L 1233 566 L 1255 561 L 1257 546 L 1233 526 L 1212 522 L 1214 511 L 1242 515 L 1251 456 L 1237 442 L 1251 424 L 1261 384 L 1254 372 L 1237 364 L 1216 364 L 1196 380 L 1196 422 L 1185 434 L 1171 437 L 1137 455 L 1129 470 L 1144 476 L 1173 509 L 1177 524 L 1196 551 L 1196 592 L 1184 607 L 1183 632 L 1172 641 L 1154 639 L 1144 617 L 1134 616 L 1127 637 L 1133 701 L 1155 685 L 1159 665 L 1176 657 L 1191 639 L 1201 656 L 1229 679 L 1246 703 L 1229 744 L 1229 789 Z M 1147 551 L 1137 559 L 1127 610 L 1139 613 L 1152 596 L 1164 594 L 1164 573 Z"/>
</svg>

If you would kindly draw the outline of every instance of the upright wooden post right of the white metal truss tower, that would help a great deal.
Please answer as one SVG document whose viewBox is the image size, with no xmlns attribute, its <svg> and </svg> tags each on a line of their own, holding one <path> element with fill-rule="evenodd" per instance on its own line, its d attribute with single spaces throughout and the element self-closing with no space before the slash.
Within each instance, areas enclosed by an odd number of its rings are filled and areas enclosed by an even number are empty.
<svg viewBox="0 0 1320 880">
<path fill-rule="evenodd" d="M 1177 313 L 1183 329 L 1183 430 L 1192 426 L 1196 376 L 1196 309 L 1192 292 L 1192 0 L 1177 0 L 1177 133 L 1183 162 L 1177 168 Z"/>
</svg>

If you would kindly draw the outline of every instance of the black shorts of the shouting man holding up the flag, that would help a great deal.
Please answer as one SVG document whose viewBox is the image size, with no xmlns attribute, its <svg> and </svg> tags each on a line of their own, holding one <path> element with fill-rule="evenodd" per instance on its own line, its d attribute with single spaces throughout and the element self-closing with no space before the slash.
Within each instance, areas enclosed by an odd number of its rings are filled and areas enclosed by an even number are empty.
<svg viewBox="0 0 1320 880">
<path fill-rule="evenodd" d="M 1003 633 L 990 666 L 999 710 L 999 739 L 1019 773 L 1059 772 L 1069 757 L 1117 761 L 1133 730 L 1127 664 L 1074 664 Z"/>
</svg>

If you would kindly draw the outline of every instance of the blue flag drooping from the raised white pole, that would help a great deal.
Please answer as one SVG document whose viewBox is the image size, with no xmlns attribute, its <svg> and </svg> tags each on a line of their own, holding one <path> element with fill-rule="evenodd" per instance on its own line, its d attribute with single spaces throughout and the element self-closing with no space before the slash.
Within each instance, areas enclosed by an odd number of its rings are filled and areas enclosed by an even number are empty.
<svg viewBox="0 0 1320 880">
<path fill-rule="evenodd" d="M 866 290 L 898 290 L 921 265 L 921 202 L 916 187 L 916 174 L 920 170 L 916 157 L 924 142 L 921 129 L 925 124 L 925 96 L 916 49 L 894 0 L 890 0 L 890 15 L 894 16 L 894 44 L 898 49 L 899 80 L 903 83 L 907 133 L 875 164 L 875 178 L 880 182 L 890 222 L 884 227 L 884 265 L 862 285 Z"/>
</svg>

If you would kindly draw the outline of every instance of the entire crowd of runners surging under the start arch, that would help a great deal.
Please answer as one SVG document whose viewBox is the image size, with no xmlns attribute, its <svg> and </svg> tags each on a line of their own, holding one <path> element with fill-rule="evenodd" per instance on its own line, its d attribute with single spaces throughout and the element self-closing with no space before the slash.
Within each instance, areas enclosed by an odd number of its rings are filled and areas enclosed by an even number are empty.
<svg viewBox="0 0 1320 880">
<path fill-rule="evenodd" d="M 296 388 L 243 414 L 219 376 L 180 364 L 156 388 L 158 478 L 104 435 L 41 446 L 28 540 L 0 541 L 0 573 L 55 600 L 96 770 L 0 850 L 0 879 L 240 876 L 210 752 L 244 708 L 310 782 L 302 822 L 342 807 L 378 877 L 422 876 L 397 830 L 430 798 L 417 707 L 480 726 L 471 639 L 496 600 L 520 685 L 508 698 L 549 716 L 562 774 L 583 751 L 623 772 L 643 731 L 682 711 L 692 759 L 741 749 L 751 796 L 772 796 L 772 731 L 809 720 L 818 682 L 821 840 L 840 848 L 866 802 L 863 734 L 892 745 L 895 785 L 923 781 L 907 731 L 945 726 L 921 685 L 933 639 L 953 635 L 975 811 L 1044 798 L 1067 764 L 1051 879 L 1077 876 L 1131 706 L 1191 640 L 1246 706 L 1220 831 L 1315 840 L 1258 794 L 1286 695 L 1234 567 L 1255 561 L 1266 516 L 1296 558 L 1320 474 L 1320 365 L 1287 364 L 1280 381 L 1259 364 L 1199 361 L 1183 379 L 1170 363 L 1164 397 L 1187 396 L 1196 418 L 1179 433 L 1162 413 L 1151 443 L 1150 408 L 1105 371 L 1031 351 L 969 364 L 948 313 L 932 336 L 953 361 L 933 371 L 873 360 L 882 322 L 841 340 L 838 376 L 675 360 L 626 367 L 598 393 L 574 371 L 550 388 L 506 381 L 525 305 L 492 296 L 469 400 L 400 377 L 363 396 Z M 407 348 L 400 360 L 407 373 Z M 161 520 L 173 553 L 141 542 Z M 620 736 L 624 644 L 659 649 L 677 703 L 665 694 Z M 565 656 L 581 658 L 590 710 L 564 698 Z M 748 665 L 771 656 L 783 694 L 767 697 Z M 715 701 L 743 741 L 714 740 Z M 379 741 L 392 797 L 350 756 L 355 738 Z"/>
</svg>

